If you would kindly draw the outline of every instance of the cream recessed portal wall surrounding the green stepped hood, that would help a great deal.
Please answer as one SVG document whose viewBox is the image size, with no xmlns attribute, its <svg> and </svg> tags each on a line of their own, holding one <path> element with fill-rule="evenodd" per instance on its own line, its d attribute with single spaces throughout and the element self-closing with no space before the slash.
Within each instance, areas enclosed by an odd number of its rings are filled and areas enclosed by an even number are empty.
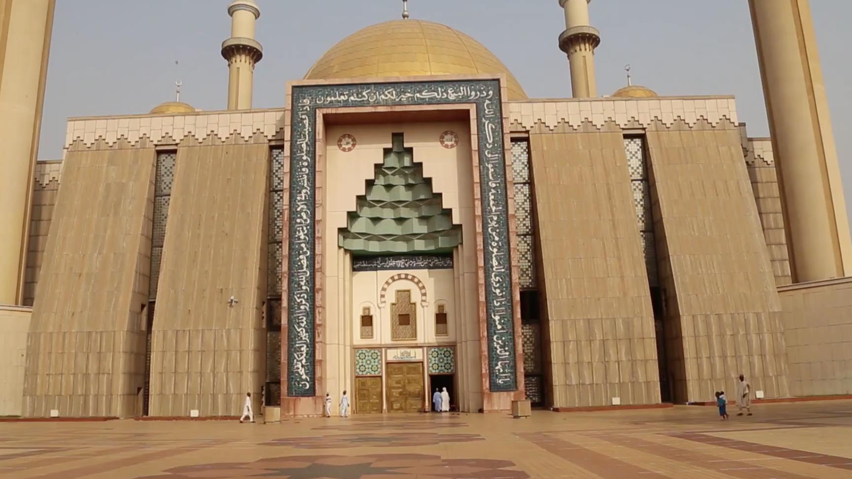
<svg viewBox="0 0 852 479">
<path fill-rule="evenodd" d="M 458 133 L 458 147 L 447 149 L 440 146 L 440 135 L 452 130 Z M 480 333 L 478 316 L 478 294 L 476 282 L 476 228 L 474 216 L 473 164 L 470 148 L 469 121 L 436 121 L 405 124 L 353 124 L 326 125 L 325 129 L 325 182 L 322 191 L 325 202 L 323 267 L 325 269 L 325 384 L 337 404 L 343 390 L 352 395 L 354 389 L 353 344 L 355 337 L 360 343 L 360 303 L 366 300 L 362 292 L 355 291 L 354 274 L 351 273 L 351 258 L 337 247 L 337 230 L 346 226 L 348 211 L 354 211 L 355 199 L 364 194 L 366 181 L 374 176 L 376 164 L 384 159 L 384 148 L 391 146 L 393 133 L 405 134 L 405 146 L 414 148 L 414 161 L 423 164 L 424 176 L 432 179 L 435 193 L 441 193 L 443 205 L 452 210 L 452 221 L 463 225 L 463 245 L 456 253 L 456 267 L 438 272 L 447 274 L 448 279 L 440 283 L 455 285 L 455 294 L 447 296 L 450 312 L 451 336 L 440 343 L 458 343 L 457 377 L 464 378 L 459 384 L 459 401 L 465 411 L 476 411 L 482 404 Z M 344 153 L 337 147 L 337 139 L 343 134 L 355 136 L 357 146 Z M 388 274 L 393 272 L 377 272 Z M 360 274 L 360 273 L 359 273 Z M 429 276 L 431 277 L 431 276 Z M 438 278 L 436 275 L 434 280 Z M 427 280 L 421 277 L 425 283 Z M 376 280 L 364 280 L 375 285 Z M 373 286 L 375 288 L 376 286 Z M 378 289 L 381 288 L 379 284 Z M 459 288 L 465 290 L 461 291 Z M 417 288 L 412 286 L 412 292 Z M 389 303 L 393 303 L 394 292 L 389 291 Z M 443 294 L 440 293 L 439 294 Z M 447 293 L 448 294 L 448 293 Z M 427 296 L 429 294 L 427 293 Z M 377 297 L 371 293 L 366 297 Z M 374 309 L 376 310 L 376 309 Z M 418 317 L 419 325 L 431 323 L 434 337 L 434 302 Z M 389 312 L 389 306 L 387 311 Z M 378 312 L 378 311 L 377 311 Z M 355 314 L 357 313 L 357 314 Z M 389 315 L 388 315 L 389 317 Z M 428 317 L 429 321 L 423 321 Z M 389 335 L 389 333 L 388 333 Z M 378 335 L 374 337 L 379 338 Z M 423 338 L 428 333 L 423 330 Z M 439 342 L 437 338 L 435 342 Z M 394 341 L 394 344 L 406 344 Z M 360 343 L 363 344 L 363 343 Z M 464 355 L 464 357 L 462 357 Z M 318 391 L 324 392 L 324 391 Z"/>
</svg>

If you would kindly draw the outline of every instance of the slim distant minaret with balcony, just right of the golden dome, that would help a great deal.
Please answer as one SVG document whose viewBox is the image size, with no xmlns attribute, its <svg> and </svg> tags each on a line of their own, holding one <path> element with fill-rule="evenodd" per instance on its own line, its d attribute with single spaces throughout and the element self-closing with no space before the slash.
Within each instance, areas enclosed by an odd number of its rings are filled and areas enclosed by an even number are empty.
<svg viewBox="0 0 852 479">
<path fill-rule="evenodd" d="M 591 0 L 559 0 L 565 10 L 565 32 L 559 36 L 559 48 L 567 53 L 571 64 L 571 89 L 574 98 L 597 96 L 595 81 L 595 49 L 601 44 L 601 33 L 589 25 Z"/>
</svg>

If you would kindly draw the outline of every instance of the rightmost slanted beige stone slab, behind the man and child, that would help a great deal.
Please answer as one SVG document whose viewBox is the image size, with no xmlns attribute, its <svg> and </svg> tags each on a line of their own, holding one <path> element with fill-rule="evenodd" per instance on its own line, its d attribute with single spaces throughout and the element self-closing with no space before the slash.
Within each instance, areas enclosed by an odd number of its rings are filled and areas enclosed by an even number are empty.
<svg viewBox="0 0 852 479">
<path fill-rule="evenodd" d="M 767 397 L 788 395 L 780 301 L 738 130 L 656 123 L 647 138 L 670 361 L 682 361 L 676 400 L 712 400 L 740 373 Z"/>
</svg>

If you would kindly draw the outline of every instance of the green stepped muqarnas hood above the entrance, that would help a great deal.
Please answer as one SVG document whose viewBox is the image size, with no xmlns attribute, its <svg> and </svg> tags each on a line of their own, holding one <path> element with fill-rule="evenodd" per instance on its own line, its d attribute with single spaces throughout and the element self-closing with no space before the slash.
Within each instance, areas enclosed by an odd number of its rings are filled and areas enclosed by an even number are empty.
<svg viewBox="0 0 852 479">
<path fill-rule="evenodd" d="M 443 207 L 440 193 L 423 177 L 423 164 L 414 162 L 413 148 L 402 133 L 366 182 L 347 228 L 340 229 L 340 246 L 355 255 L 447 253 L 462 242 L 462 228 L 452 224 L 452 211 Z"/>
</svg>

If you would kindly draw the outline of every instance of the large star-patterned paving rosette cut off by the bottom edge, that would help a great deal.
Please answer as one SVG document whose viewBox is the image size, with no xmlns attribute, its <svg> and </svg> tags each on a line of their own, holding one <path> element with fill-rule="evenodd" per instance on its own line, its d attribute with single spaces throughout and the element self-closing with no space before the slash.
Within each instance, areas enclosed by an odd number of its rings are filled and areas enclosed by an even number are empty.
<svg viewBox="0 0 852 479">
<path fill-rule="evenodd" d="M 158 476 L 140 479 L 213 479 L 222 477 L 505 477 L 525 479 L 515 463 L 502 459 L 441 459 L 430 454 L 370 454 L 363 456 L 287 456 L 252 462 L 216 463 L 173 467 Z"/>
</svg>

